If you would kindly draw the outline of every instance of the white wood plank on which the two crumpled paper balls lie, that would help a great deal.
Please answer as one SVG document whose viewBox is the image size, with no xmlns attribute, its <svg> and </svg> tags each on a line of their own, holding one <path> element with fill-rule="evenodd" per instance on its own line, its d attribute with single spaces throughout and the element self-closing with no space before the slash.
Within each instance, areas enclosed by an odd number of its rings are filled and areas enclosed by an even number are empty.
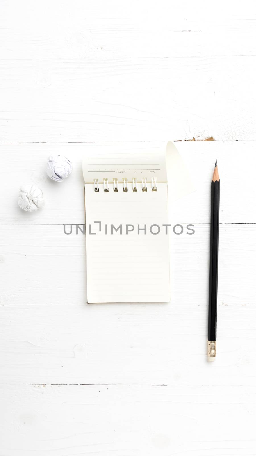
<svg viewBox="0 0 256 456">
<path fill-rule="evenodd" d="M 119 150 L 157 147 L 157 142 L 117 143 Z M 218 159 L 221 181 L 220 223 L 256 223 L 256 142 L 176 142 L 191 171 L 197 191 L 169 207 L 171 223 L 210 223 L 210 181 Z M 90 144 L 5 144 L 0 145 L 0 223 L 71 224 L 84 223 L 84 182 L 82 157 Z M 104 143 L 94 145 L 95 150 Z M 61 183 L 45 172 L 51 153 L 61 153 L 74 164 L 74 171 Z M 239 181 L 238 181 L 239 173 Z M 21 184 L 34 182 L 42 188 L 46 207 L 34 213 L 17 205 Z"/>
</svg>

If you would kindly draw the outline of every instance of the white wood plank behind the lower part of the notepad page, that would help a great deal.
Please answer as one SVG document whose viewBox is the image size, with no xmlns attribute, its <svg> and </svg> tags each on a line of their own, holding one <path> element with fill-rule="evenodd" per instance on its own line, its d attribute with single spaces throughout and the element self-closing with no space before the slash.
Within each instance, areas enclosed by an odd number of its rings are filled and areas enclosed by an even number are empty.
<svg viewBox="0 0 256 456">
<path fill-rule="evenodd" d="M 185 306 L 190 301 L 207 304 L 210 226 L 194 229 L 193 235 L 186 234 L 185 225 L 181 235 L 170 230 L 172 303 L 176 305 L 181 299 Z M 0 238 L 2 306 L 87 302 L 85 236 L 80 231 L 76 234 L 74 228 L 66 235 L 61 225 L 1 226 Z M 220 225 L 219 297 L 224 305 L 253 304 L 255 250 L 254 225 Z M 246 264 L 249 269 L 244 269 Z M 33 286 L 38 293 L 31 294 Z"/>
</svg>

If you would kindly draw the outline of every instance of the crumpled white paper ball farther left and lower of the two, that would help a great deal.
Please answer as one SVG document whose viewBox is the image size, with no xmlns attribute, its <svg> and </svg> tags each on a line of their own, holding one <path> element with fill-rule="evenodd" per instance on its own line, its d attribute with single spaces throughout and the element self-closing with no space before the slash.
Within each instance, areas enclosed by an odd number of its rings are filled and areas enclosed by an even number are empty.
<svg viewBox="0 0 256 456">
<path fill-rule="evenodd" d="M 20 187 L 18 205 L 27 212 L 34 212 L 41 209 L 45 204 L 43 192 L 36 185 L 22 185 Z"/>
</svg>

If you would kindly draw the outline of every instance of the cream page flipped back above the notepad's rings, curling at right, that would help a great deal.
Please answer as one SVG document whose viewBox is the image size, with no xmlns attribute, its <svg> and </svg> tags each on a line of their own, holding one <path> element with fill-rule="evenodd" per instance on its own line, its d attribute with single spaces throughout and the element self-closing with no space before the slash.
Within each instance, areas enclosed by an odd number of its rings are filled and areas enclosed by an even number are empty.
<svg viewBox="0 0 256 456">
<path fill-rule="evenodd" d="M 124 179 L 138 182 L 167 182 L 169 199 L 175 201 L 193 192 L 189 172 L 171 141 L 159 143 L 96 143 L 88 145 L 82 164 L 86 184 L 97 180 L 103 183 L 123 183 Z"/>
</svg>

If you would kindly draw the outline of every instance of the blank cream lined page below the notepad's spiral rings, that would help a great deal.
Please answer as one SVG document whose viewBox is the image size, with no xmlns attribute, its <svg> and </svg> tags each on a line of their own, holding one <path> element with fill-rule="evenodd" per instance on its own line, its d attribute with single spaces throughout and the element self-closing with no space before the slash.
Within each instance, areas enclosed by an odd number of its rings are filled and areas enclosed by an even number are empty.
<svg viewBox="0 0 256 456">
<path fill-rule="evenodd" d="M 85 185 L 86 203 L 86 255 L 87 301 L 101 302 L 169 302 L 169 236 L 163 223 L 168 223 L 167 183 L 159 183 L 157 191 L 94 192 L 93 184 Z M 101 222 L 101 231 L 99 223 Z M 116 232 L 111 225 L 120 229 Z M 134 231 L 126 234 L 126 224 Z M 138 225 L 147 233 L 140 231 Z M 151 234 L 149 228 L 158 224 L 159 234 Z M 91 233 L 89 234 L 89 225 Z M 107 232 L 105 234 L 105 226 Z M 131 229 L 131 227 L 129 227 Z M 157 231 L 158 228 L 152 228 Z"/>
</svg>

